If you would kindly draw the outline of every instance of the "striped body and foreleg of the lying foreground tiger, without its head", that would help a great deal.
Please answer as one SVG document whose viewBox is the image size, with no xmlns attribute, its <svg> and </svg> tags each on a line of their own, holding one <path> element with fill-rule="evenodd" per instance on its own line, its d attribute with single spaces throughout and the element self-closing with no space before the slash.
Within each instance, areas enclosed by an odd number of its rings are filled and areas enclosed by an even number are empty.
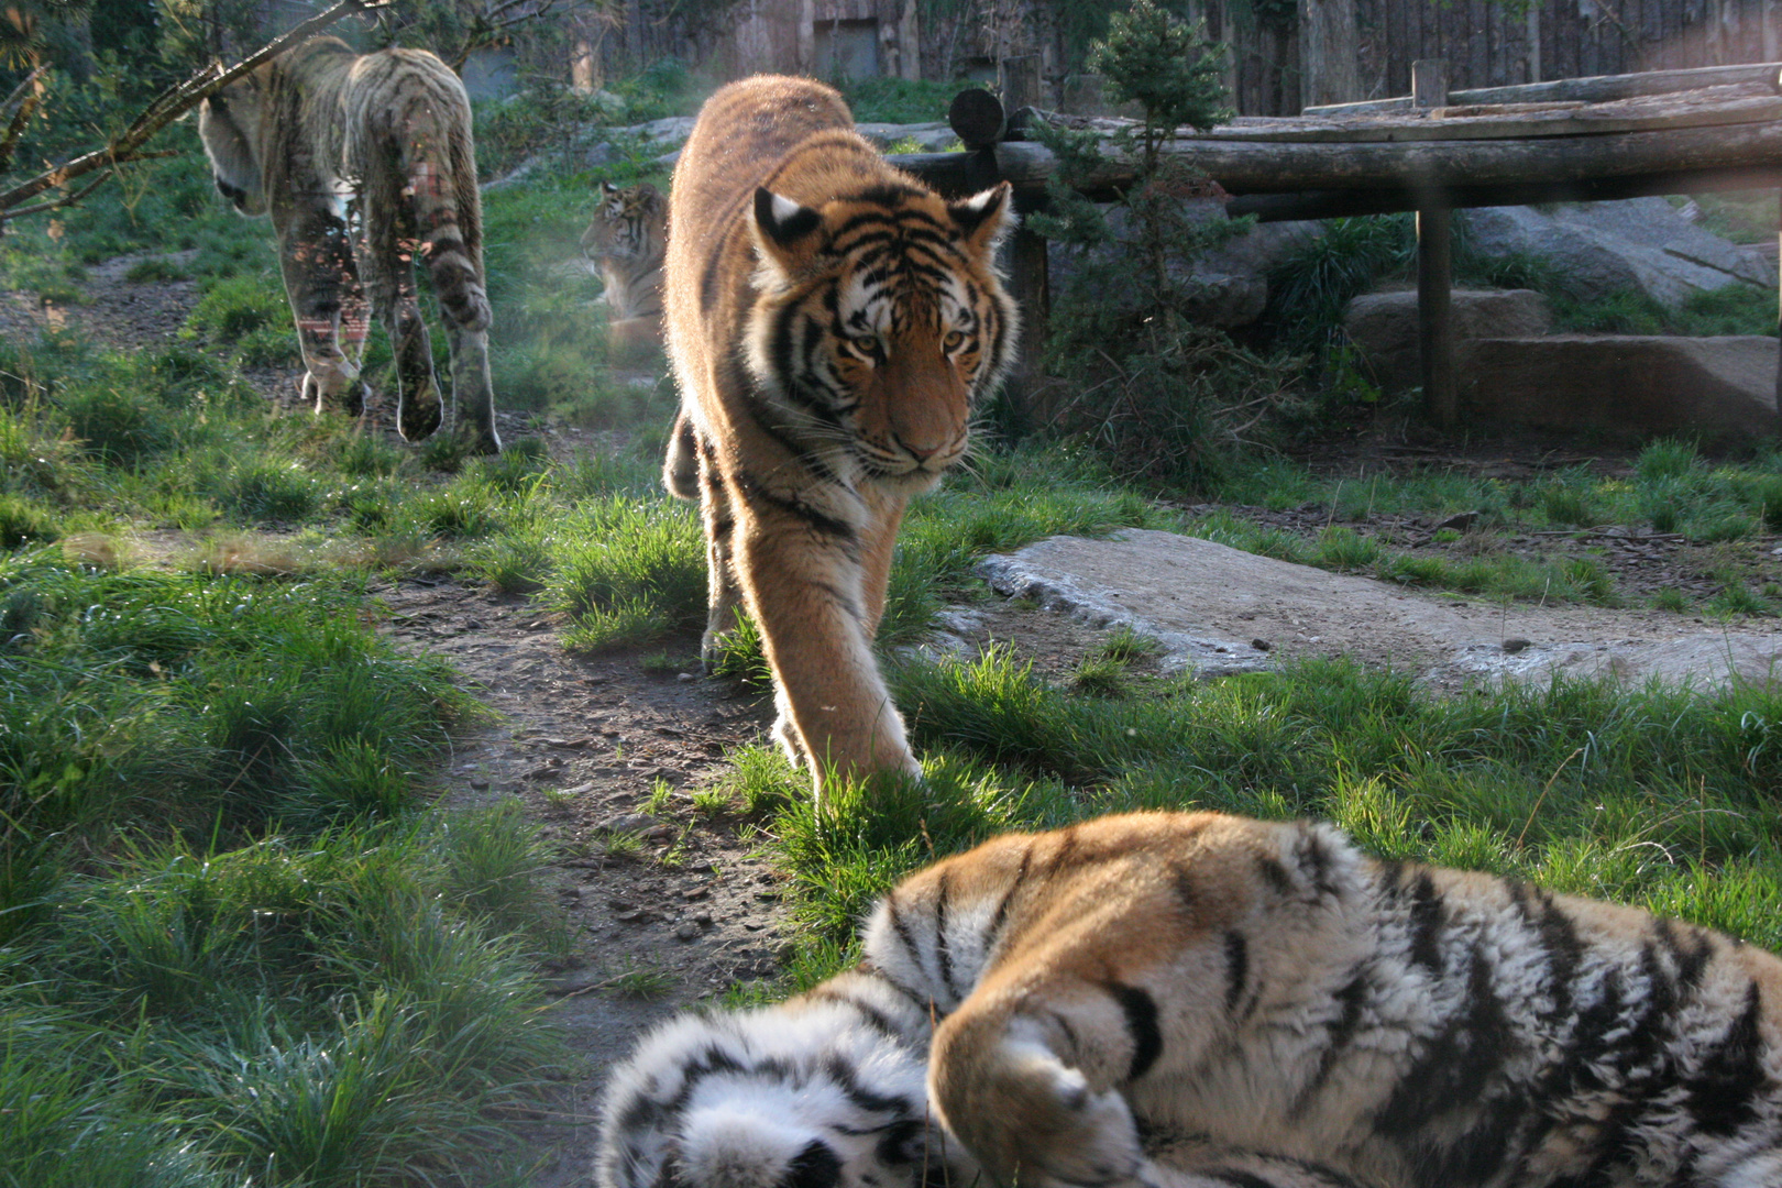
<svg viewBox="0 0 1782 1188">
<path fill-rule="evenodd" d="M 946 1013 L 930 1094 L 1003 1184 L 1142 1177 L 1132 1117 L 1381 1188 L 1782 1184 L 1782 960 L 1324 825 L 996 839 L 866 955 Z"/>
</svg>

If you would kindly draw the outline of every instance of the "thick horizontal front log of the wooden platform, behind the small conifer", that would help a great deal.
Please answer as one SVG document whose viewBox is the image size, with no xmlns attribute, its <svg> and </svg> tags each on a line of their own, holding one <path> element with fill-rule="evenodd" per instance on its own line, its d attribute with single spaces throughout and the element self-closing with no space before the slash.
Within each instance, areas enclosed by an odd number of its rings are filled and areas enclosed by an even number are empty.
<svg viewBox="0 0 1782 1188">
<path fill-rule="evenodd" d="M 1442 194 L 1463 187 L 1582 183 L 1604 178 L 1750 169 L 1782 160 L 1782 123 L 1538 141 L 1420 141 L 1408 144 L 1267 144 L 1169 141 L 1165 151 L 1219 182 L 1228 194 L 1410 189 Z M 957 153 L 953 153 L 957 157 Z M 1003 142 L 996 169 L 1018 187 L 1039 187 L 1055 167 L 1044 144 Z M 1108 199 L 1132 185 L 1133 164 L 1110 157 L 1083 185 Z"/>
</svg>

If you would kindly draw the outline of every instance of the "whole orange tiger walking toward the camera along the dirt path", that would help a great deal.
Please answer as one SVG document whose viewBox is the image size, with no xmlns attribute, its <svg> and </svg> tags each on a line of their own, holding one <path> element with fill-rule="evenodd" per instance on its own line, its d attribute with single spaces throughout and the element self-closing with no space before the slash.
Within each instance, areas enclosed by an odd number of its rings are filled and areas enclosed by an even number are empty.
<svg viewBox="0 0 1782 1188">
<path fill-rule="evenodd" d="M 704 657 L 745 606 L 775 736 L 820 794 L 830 771 L 921 773 L 871 641 L 903 508 L 964 458 L 973 401 L 1010 362 L 1009 194 L 943 201 L 809 78 L 720 89 L 675 166 L 665 481 L 700 500 Z"/>
</svg>

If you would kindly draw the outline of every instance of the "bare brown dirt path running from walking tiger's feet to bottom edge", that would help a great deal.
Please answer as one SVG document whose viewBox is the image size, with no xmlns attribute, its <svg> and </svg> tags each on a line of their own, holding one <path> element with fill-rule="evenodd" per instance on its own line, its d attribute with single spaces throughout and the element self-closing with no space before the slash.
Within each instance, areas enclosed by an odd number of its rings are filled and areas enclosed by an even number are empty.
<svg viewBox="0 0 1782 1188">
<path fill-rule="evenodd" d="M 691 803 L 727 768 L 725 752 L 759 737 L 772 705 L 729 682 L 654 671 L 638 654 L 574 657 L 524 600 L 481 588 L 408 581 L 374 593 L 392 639 L 449 659 L 499 714 L 453 755 L 444 801 L 519 798 L 558 855 L 547 878 L 572 956 L 551 990 L 579 1065 L 526 1138 L 542 1160 L 538 1188 L 581 1184 L 606 1065 L 666 1013 L 779 974 L 775 876 L 740 823 L 704 819 Z"/>
</svg>

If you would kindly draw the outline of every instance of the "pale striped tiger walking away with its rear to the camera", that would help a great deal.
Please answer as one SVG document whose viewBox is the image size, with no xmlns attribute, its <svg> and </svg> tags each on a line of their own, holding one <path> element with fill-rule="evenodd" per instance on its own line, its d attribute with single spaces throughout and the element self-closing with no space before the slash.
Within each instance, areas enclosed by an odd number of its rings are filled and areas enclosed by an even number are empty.
<svg viewBox="0 0 1782 1188">
<path fill-rule="evenodd" d="M 501 452 L 483 208 L 458 75 L 424 50 L 360 55 L 314 37 L 207 98 L 198 132 L 217 191 L 244 216 L 273 216 L 315 411 L 364 411 L 369 296 L 396 354 L 397 429 L 410 442 L 438 429 L 421 258 L 451 344 L 458 431 L 474 452 Z"/>
</svg>

